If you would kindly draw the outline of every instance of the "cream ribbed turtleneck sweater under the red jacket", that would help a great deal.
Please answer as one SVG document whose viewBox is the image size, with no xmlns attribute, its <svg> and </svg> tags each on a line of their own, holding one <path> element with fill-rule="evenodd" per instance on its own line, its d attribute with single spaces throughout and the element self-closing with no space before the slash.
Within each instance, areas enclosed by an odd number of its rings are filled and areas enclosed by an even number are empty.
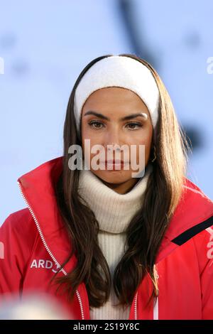
<svg viewBox="0 0 213 334">
<path fill-rule="evenodd" d="M 124 254 L 126 228 L 143 203 L 143 194 L 152 171 L 153 166 L 149 163 L 143 178 L 138 179 L 128 193 L 119 194 L 105 185 L 92 171 L 85 170 L 84 167 L 80 170 L 78 192 L 99 222 L 99 246 L 109 264 L 111 278 Z M 129 319 L 130 306 L 124 309 L 121 306 L 114 306 L 115 303 L 118 303 L 118 298 L 111 286 L 109 300 L 99 308 L 92 308 L 90 318 Z"/>
</svg>

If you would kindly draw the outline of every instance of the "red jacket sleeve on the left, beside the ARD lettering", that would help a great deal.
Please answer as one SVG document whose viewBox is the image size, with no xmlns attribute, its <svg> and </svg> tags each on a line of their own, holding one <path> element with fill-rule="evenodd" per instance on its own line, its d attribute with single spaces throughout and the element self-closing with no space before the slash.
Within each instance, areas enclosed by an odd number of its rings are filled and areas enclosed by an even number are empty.
<svg viewBox="0 0 213 334">
<path fill-rule="evenodd" d="M 36 230 L 28 208 L 11 213 L 0 227 L 0 303 L 21 294 Z"/>
</svg>

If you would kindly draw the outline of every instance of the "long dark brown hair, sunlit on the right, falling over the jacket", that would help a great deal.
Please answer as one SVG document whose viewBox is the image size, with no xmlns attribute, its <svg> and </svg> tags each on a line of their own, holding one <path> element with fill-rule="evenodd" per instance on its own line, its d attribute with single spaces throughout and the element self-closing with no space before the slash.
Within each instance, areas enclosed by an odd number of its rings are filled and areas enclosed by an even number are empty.
<svg viewBox="0 0 213 334">
<path fill-rule="evenodd" d="M 78 194 L 79 170 L 71 170 L 68 166 L 70 153 L 68 149 L 73 144 L 82 146 L 77 136 L 74 115 L 74 96 L 77 85 L 84 73 L 103 58 L 103 55 L 89 63 L 80 73 L 72 89 L 67 104 L 67 114 L 64 125 L 64 151 L 62 174 L 58 179 L 56 197 L 58 208 L 67 227 L 72 252 L 70 257 L 77 256 L 75 269 L 66 276 L 56 277 L 59 286 L 63 286 L 72 300 L 75 290 L 83 281 L 88 293 L 89 306 L 102 306 L 109 298 L 113 284 L 118 305 L 127 306 L 133 301 L 133 296 L 143 278 L 148 274 L 153 282 L 153 293 L 149 298 L 158 296 L 158 280 L 155 259 L 160 242 L 165 235 L 169 222 L 182 195 L 182 184 L 185 182 L 187 168 L 188 144 L 184 131 L 175 116 L 173 104 L 158 73 L 145 60 L 132 54 L 121 54 L 141 62 L 151 70 L 160 92 L 159 117 L 153 136 L 156 159 L 153 162 L 153 173 L 148 179 L 143 208 L 136 212 L 126 230 L 126 252 L 117 264 L 114 276 L 111 278 L 109 265 L 99 247 L 99 222 L 88 205 L 83 204 Z M 139 265 L 140 264 L 140 265 Z M 55 278 L 55 276 L 54 276 Z"/>
</svg>

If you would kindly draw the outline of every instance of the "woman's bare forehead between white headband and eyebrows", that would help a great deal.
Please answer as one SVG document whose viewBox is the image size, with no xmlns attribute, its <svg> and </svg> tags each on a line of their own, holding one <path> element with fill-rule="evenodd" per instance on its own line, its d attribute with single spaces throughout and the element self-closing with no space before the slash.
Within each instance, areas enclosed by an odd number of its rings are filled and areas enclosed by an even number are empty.
<svg viewBox="0 0 213 334">
<path fill-rule="evenodd" d="M 149 114 L 146 104 L 135 92 L 123 87 L 106 87 L 96 90 L 84 103 L 82 114 L 92 109 L 97 112 L 119 113 L 145 112 Z"/>
</svg>

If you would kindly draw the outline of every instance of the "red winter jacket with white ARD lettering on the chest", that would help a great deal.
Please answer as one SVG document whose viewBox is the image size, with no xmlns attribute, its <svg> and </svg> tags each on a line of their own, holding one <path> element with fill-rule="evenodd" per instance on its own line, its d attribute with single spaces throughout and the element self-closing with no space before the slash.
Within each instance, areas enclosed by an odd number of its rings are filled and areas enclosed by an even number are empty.
<svg viewBox="0 0 213 334">
<path fill-rule="evenodd" d="M 47 161 L 20 178 L 18 185 L 28 208 L 11 213 L 1 226 L 0 301 L 4 296 L 28 291 L 55 295 L 49 286 L 55 269 L 70 253 L 70 241 L 62 222 L 53 185 L 62 170 L 62 157 Z M 213 319 L 213 202 L 186 179 L 182 196 L 161 243 L 158 270 L 158 302 L 144 308 L 152 282 L 146 276 L 138 286 L 129 320 Z M 4 249 L 3 249 L 4 246 Z M 66 275 L 72 259 L 60 271 Z M 89 319 L 89 300 L 84 283 L 72 303 L 57 295 L 70 318 Z"/>
</svg>

